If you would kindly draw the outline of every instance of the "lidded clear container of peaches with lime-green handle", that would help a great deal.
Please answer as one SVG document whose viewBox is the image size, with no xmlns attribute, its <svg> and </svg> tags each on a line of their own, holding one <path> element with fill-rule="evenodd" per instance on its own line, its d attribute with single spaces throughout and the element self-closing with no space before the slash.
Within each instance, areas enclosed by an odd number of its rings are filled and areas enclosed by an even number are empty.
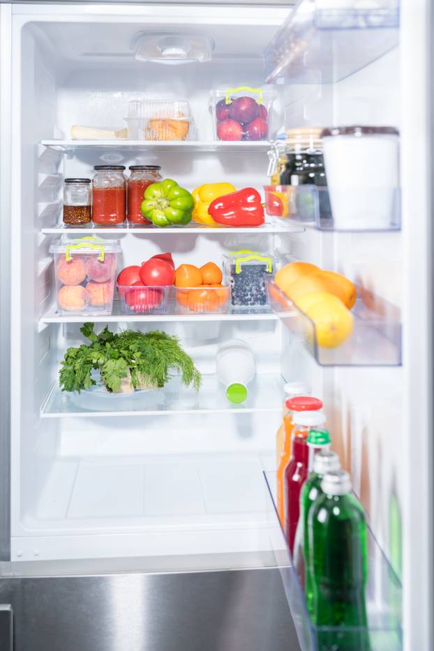
<svg viewBox="0 0 434 651">
<path fill-rule="evenodd" d="M 57 313 L 111 314 L 118 239 L 61 237 L 50 246 L 54 255 Z"/>
</svg>

